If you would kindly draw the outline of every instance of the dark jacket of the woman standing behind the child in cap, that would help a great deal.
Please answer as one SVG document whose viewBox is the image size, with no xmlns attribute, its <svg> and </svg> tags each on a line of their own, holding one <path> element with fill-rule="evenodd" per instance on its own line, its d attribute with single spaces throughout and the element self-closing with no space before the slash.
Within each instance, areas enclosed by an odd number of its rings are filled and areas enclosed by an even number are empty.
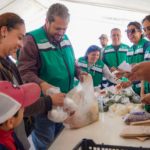
<svg viewBox="0 0 150 150">
<path fill-rule="evenodd" d="M 4 59 L 0 56 L 0 80 L 7 80 L 13 83 L 12 75 L 15 76 L 19 85 L 22 85 L 22 79 L 15 63 L 8 57 Z M 35 103 L 25 107 L 24 117 L 42 114 L 52 109 L 52 100 L 50 96 L 40 97 Z M 45 114 L 44 114 L 45 115 Z M 27 139 L 27 131 L 25 132 L 25 124 L 21 123 L 14 129 L 18 139 L 23 144 L 24 149 L 30 148 L 30 143 Z"/>
</svg>

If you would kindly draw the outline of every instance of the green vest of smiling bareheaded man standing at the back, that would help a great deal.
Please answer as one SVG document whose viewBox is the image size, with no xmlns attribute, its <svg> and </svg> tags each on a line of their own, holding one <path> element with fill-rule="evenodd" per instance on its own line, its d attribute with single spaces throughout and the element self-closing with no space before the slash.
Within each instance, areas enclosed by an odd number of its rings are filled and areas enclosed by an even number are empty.
<svg viewBox="0 0 150 150">
<path fill-rule="evenodd" d="M 118 68 L 118 66 L 126 60 L 127 51 L 129 49 L 128 45 L 121 43 L 118 51 L 116 51 L 113 45 L 109 45 L 104 50 L 104 62 L 110 67 Z M 123 81 L 128 81 L 126 78 L 121 78 Z M 108 81 L 110 82 L 110 81 Z"/>
</svg>

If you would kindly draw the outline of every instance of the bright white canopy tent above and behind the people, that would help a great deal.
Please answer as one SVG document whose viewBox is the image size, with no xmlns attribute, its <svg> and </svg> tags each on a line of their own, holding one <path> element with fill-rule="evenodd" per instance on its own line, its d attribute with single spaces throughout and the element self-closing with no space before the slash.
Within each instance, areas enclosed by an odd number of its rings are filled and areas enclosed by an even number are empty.
<svg viewBox="0 0 150 150">
<path fill-rule="evenodd" d="M 99 45 L 100 34 L 104 32 L 110 36 L 110 30 L 114 27 L 123 31 L 122 41 L 131 45 L 124 33 L 127 24 L 130 21 L 141 22 L 150 13 L 149 0 L 1 0 L 0 14 L 17 13 L 25 20 L 28 32 L 44 24 L 46 11 L 56 2 L 66 5 L 71 14 L 67 34 L 75 54 L 78 52 L 77 57 L 88 46 Z"/>
</svg>

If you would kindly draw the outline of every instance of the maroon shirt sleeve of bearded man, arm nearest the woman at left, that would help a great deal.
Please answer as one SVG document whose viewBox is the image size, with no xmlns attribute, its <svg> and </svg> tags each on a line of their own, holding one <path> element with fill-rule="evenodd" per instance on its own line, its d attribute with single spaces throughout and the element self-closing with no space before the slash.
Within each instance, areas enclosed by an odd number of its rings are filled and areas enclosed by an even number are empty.
<svg viewBox="0 0 150 150">
<path fill-rule="evenodd" d="M 24 83 L 34 82 L 40 85 L 43 80 L 38 77 L 42 67 L 39 51 L 31 35 L 26 35 L 23 40 L 23 48 L 20 49 L 18 69 Z"/>
</svg>

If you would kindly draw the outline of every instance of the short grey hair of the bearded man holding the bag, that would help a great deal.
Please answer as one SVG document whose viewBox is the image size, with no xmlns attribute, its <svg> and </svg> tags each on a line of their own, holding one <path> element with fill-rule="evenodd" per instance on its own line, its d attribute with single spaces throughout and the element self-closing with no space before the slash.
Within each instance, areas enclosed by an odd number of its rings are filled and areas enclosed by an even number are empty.
<svg viewBox="0 0 150 150">
<path fill-rule="evenodd" d="M 54 22 L 56 16 L 62 18 L 63 20 L 69 19 L 70 14 L 68 8 L 59 3 L 51 5 L 48 9 L 46 18 L 49 22 Z"/>
</svg>

